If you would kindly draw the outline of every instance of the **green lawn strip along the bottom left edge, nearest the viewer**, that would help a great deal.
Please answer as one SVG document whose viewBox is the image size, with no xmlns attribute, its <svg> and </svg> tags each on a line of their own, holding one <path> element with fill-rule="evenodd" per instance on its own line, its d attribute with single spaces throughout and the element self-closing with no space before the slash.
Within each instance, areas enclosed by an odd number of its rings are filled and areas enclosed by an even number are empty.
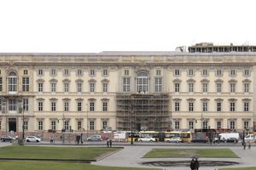
<svg viewBox="0 0 256 170">
<path fill-rule="evenodd" d="M 1 170 L 154 170 L 135 167 L 101 167 L 88 163 L 69 163 L 52 161 L 0 161 Z"/>
</svg>

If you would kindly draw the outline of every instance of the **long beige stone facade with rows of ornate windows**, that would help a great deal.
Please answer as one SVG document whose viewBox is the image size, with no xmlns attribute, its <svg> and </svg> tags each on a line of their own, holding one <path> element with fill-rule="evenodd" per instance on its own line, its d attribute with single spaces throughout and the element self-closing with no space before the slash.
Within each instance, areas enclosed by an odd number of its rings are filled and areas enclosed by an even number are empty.
<svg viewBox="0 0 256 170">
<path fill-rule="evenodd" d="M 133 100 L 148 102 L 143 96 L 158 94 L 168 96 L 160 130 L 253 129 L 255 57 L 252 52 L 0 54 L 1 131 L 22 132 L 23 117 L 26 133 L 63 128 L 129 130 L 131 126 L 152 130 L 152 117 L 157 120 L 163 111 L 157 106 L 160 99 L 153 101 L 154 110 L 147 103 L 151 112 L 126 103 L 130 118 L 124 115 L 119 122 L 117 116 L 125 110 L 119 110 L 117 96 L 132 95 Z M 144 116 L 138 117 L 140 111 Z M 149 112 L 151 118 L 145 115 Z"/>
</svg>

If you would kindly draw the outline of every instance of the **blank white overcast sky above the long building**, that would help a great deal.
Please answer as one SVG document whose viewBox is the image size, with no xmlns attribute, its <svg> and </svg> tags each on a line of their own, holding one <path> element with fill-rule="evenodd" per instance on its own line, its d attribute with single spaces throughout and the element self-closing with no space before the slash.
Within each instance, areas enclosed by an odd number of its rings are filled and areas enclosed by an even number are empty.
<svg viewBox="0 0 256 170">
<path fill-rule="evenodd" d="M 0 0 L 0 53 L 256 45 L 255 0 Z"/>
</svg>

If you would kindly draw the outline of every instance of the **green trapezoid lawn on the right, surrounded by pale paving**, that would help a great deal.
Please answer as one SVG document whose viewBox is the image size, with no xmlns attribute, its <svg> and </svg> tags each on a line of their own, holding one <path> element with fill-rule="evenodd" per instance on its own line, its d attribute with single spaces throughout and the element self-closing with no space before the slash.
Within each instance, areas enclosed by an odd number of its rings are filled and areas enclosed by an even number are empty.
<svg viewBox="0 0 256 170">
<path fill-rule="evenodd" d="M 153 149 L 150 150 L 145 158 L 160 157 L 230 157 L 238 158 L 230 149 Z"/>
</svg>

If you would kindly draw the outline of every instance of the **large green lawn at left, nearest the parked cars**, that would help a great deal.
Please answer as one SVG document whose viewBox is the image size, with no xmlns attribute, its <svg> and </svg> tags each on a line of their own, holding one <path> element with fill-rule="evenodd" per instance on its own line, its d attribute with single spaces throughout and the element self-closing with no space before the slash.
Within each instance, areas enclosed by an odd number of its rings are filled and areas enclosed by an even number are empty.
<svg viewBox="0 0 256 170">
<path fill-rule="evenodd" d="M 12 145 L 0 148 L 0 157 L 49 158 L 49 159 L 96 159 L 98 156 L 119 150 L 107 147 L 44 147 Z"/>
</svg>

